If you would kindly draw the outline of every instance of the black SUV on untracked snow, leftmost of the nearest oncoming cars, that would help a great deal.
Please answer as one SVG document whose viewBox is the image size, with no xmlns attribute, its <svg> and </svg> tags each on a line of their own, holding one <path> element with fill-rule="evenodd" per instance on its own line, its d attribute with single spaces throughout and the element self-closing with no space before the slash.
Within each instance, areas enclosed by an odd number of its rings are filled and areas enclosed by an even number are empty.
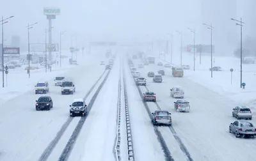
<svg viewBox="0 0 256 161">
<path fill-rule="evenodd" d="M 53 107 L 51 96 L 40 96 L 36 100 L 36 111 L 47 110 L 49 111 Z"/>
</svg>

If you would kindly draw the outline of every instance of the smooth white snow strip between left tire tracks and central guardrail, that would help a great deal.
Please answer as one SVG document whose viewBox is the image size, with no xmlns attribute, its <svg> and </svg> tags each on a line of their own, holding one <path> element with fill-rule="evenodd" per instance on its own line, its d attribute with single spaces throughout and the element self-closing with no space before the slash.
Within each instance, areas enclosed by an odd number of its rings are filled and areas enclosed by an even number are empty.
<svg viewBox="0 0 256 161">
<path fill-rule="evenodd" d="M 69 160 L 115 160 L 116 104 L 120 62 L 118 59 L 100 90 L 77 138 Z"/>
</svg>

